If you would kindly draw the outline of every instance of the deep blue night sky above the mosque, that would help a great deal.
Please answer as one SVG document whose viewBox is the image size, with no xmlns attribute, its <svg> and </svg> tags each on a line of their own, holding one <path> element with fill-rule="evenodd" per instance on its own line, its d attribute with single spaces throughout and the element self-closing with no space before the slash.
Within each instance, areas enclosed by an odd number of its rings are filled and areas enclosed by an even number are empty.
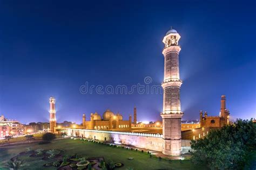
<svg viewBox="0 0 256 170">
<path fill-rule="evenodd" d="M 162 95 L 80 94 L 89 84 L 142 83 L 164 76 L 162 39 L 180 36 L 183 119 L 218 115 L 227 96 L 231 118 L 256 117 L 255 1 L 1 1 L 0 114 L 22 123 L 82 121 L 107 108 L 128 119 L 160 119 Z"/>
</svg>

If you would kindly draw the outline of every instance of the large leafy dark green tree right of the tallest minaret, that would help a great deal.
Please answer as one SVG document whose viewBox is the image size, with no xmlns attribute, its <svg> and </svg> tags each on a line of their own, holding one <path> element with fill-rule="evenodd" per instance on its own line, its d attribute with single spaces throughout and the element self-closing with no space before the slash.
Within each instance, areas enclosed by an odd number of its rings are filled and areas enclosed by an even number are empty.
<svg viewBox="0 0 256 170">
<path fill-rule="evenodd" d="M 191 141 L 192 158 L 196 164 L 210 168 L 242 169 L 246 155 L 256 149 L 256 124 L 237 120 L 220 130 L 211 130 L 205 138 Z"/>
</svg>

